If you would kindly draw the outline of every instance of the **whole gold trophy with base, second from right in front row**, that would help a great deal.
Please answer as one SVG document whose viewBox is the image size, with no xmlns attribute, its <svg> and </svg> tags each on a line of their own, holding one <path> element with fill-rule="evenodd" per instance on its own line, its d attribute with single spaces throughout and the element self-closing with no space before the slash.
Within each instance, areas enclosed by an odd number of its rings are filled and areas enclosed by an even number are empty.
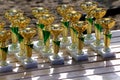
<svg viewBox="0 0 120 80">
<path fill-rule="evenodd" d="M 78 21 L 74 28 L 77 30 L 77 49 L 73 52 L 70 51 L 69 53 L 76 61 L 83 61 L 88 60 L 88 55 L 85 51 L 83 51 L 84 48 L 84 35 L 83 32 L 87 29 L 88 23 L 86 21 Z"/>
</svg>

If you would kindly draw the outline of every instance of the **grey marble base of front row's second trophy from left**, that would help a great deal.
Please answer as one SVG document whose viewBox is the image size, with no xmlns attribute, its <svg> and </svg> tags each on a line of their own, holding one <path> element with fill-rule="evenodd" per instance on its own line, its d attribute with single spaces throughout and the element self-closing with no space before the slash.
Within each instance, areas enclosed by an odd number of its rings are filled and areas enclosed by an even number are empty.
<svg viewBox="0 0 120 80">
<path fill-rule="evenodd" d="M 37 61 L 34 61 L 34 60 L 32 60 L 31 62 L 25 62 L 23 60 L 22 65 L 23 65 L 24 68 L 30 69 L 30 68 L 37 68 L 38 63 L 37 63 Z"/>
</svg>

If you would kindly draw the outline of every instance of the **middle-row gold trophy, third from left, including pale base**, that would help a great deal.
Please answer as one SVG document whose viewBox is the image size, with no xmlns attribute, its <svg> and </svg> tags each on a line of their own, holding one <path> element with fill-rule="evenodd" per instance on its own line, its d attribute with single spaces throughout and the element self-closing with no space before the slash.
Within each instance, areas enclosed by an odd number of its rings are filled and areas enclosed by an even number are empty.
<svg viewBox="0 0 120 80">
<path fill-rule="evenodd" d="M 77 11 L 70 11 L 66 14 L 66 17 L 70 20 L 70 34 L 71 34 L 71 44 L 67 47 L 67 52 L 70 53 L 71 51 L 74 52 L 77 49 L 77 34 L 78 32 L 74 28 L 76 22 L 79 21 L 81 17 L 81 13 Z"/>
</svg>

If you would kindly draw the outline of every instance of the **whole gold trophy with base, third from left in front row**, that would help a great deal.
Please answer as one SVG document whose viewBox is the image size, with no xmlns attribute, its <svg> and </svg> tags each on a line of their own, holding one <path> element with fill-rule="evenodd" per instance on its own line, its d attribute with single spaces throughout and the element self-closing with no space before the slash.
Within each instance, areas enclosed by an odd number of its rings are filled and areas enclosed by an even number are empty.
<svg viewBox="0 0 120 80">
<path fill-rule="evenodd" d="M 49 57 L 52 64 L 64 64 L 64 58 L 60 56 L 59 48 L 60 48 L 60 40 L 58 39 L 58 35 L 63 31 L 63 28 L 60 24 L 53 24 L 51 27 L 51 34 L 53 35 L 53 55 Z"/>
</svg>

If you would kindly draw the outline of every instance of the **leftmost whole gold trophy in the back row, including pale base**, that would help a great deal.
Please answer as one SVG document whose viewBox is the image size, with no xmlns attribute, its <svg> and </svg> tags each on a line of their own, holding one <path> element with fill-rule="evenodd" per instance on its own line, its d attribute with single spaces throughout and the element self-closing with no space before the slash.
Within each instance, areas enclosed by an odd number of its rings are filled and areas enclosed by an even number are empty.
<svg viewBox="0 0 120 80">
<path fill-rule="evenodd" d="M 5 17 L 11 22 L 11 37 L 12 44 L 8 46 L 8 53 L 16 53 L 19 51 L 19 44 L 17 40 L 18 34 L 18 26 L 13 21 L 18 17 L 23 16 L 23 12 L 21 10 L 11 9 L 5 13 Z"/>
</svg>

